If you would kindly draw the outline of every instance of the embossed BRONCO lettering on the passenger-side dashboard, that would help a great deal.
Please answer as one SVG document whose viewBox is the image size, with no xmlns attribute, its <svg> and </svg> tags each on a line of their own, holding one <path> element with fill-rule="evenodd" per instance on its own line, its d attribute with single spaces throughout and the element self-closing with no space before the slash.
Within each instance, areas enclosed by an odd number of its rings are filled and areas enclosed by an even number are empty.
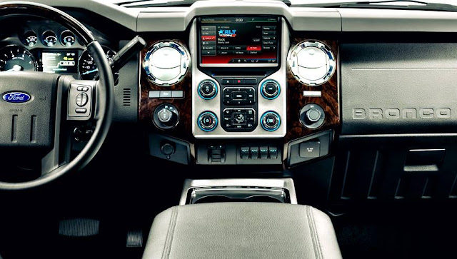
<svg viewBox="0 0 457 259">
<path fill-rule="evenodd" d="M 405 118 L 451 118 L 450 108 L 353 108 L 352 118 L 361 119 L 405 119 Z"/>
</svg>

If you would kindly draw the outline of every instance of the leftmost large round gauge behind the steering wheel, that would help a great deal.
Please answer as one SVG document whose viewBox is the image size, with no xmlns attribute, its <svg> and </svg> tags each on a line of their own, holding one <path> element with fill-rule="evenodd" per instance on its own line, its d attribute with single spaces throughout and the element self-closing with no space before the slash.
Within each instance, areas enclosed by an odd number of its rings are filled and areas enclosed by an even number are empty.
<svg viewBox="0 0 457 259">
<path fill-rule="evenodd" d="M 34 56 L 24 47 L 10 45 L 0 50 L 0 71 L 36 71 Z"/>
</svg>

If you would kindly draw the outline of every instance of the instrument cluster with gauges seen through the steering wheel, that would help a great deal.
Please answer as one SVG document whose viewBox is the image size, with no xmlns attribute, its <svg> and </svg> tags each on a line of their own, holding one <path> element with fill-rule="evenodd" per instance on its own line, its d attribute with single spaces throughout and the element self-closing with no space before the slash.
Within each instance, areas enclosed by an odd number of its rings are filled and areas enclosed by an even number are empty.
<svg viewBox="0 0 457 259">
<path fill-rule="evenodd" d="M 42 71 L 84 80 L 96 77 L 94 59 L 68 29 L 47 21 L 27 21 L 11 27 L 1 35 L 0 71 Z M 106 59 L 116 54 L 106 44 L 103 49 Z"/>
</svg>

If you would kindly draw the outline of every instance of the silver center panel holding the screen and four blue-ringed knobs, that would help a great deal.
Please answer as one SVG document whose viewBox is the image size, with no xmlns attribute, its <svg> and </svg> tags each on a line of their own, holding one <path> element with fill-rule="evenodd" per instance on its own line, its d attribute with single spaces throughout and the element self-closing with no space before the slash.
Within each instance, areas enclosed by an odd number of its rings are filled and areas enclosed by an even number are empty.
<svg viewBox="0 0 457 259">
<path fill-rule="evenodd" d="M 277 16 L 204 16 L 191 27 L 195 138 L 286 135 L 286 23 Z M 196 37 L 196 39 L 194 38 Z M 282 91 L 281 91 L 282 88 Z"/>
</svg>

